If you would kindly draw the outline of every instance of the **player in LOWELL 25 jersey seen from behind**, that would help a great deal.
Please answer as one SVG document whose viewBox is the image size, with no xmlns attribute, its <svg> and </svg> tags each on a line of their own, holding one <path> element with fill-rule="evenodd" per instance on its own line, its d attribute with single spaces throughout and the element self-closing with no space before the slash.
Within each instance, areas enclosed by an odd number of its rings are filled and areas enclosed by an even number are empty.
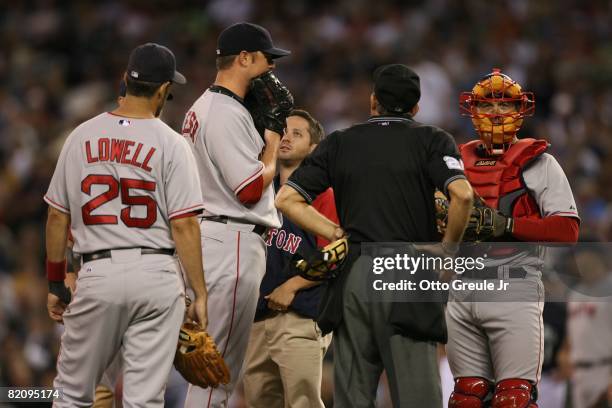
<svg viewBox="0 0 612 408">
<path fill-rule="evenodd" d="M 168 48 L 147 43 L 130 54 L 125 80 L 119 108 L 70 134 L 44 197 L 47 303 L 65 325 L 58 407 L 91 406 L 118 353 L 124 406 L 163 406 L 185 311 L 175 248 L 196 295 L 191 316 L 207 325 L 195 161 L 184 138 L 157 118 L 171 84 L 185 77 Z M 66 306 L 69 225 L 83 264 Z"/>
</svg>

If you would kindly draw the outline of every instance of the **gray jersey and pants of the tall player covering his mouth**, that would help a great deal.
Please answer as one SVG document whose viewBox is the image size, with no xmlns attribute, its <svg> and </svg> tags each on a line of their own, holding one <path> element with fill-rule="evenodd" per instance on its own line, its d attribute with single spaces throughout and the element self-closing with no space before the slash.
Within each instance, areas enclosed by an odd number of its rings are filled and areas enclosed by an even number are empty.
<svg viewBox="0 0 612 408">
<path fill-rule="evenodd" d="M 274 186 L 258 202 L 245 206 L 237 194 L 262 175 L 264 142 L 247 109 L 229 95 L 207 90 L 185 116 L 183 135 L 190 140 L 202 183 L 205 215 L 202 255 L 208 288 L 208 333 L 215 339 L 231 382 L 218 388 L 189 387 L 185 407 L 225 407 L 242 366 L 255 317 L 259 285 L 266 269 L 266 245 L 254 225 L 280 227 Z"/>
</svg>

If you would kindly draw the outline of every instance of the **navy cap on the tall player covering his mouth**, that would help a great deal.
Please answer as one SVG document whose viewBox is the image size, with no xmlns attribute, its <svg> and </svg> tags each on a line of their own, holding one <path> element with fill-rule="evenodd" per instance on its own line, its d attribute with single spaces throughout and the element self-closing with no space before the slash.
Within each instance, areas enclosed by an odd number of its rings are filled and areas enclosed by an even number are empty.
<svg viewBox="0 0 612 408">
<path fill-rule="evenodd" d="M 268 30 L 253 23 L 236 23 L 219 34 L 217 57 L 237 55 L 240 51 L 261 51 L 272 58 L 291 54 L 291 51 L 276 48 Z"/>
</svg>

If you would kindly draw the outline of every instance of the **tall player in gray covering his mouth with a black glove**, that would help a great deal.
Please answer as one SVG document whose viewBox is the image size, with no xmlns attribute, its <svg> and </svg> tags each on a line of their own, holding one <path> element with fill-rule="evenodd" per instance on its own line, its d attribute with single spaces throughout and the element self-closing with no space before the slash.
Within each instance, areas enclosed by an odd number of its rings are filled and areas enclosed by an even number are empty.
<svg viewBox="0 0 612 408">
<path fill-rule="evenodd" d="M 276 48 L 268 31 L 251 23 L 221 32 L 214 84 L 196 100 L 183 135 L 196 156 L 202 181 L 201 222 L 211 324 L 230 372 L 227 386 L 189 386 L 186 407 L 226 406 L 240 371 L 266 270 L 265 233 L 281 226 L 274 207 L 278 146 L 285 118 L 264 139 L 244 106 L 251 80 L 274 68 L 289 52 Z M 205 184 L 204 184 L 205 183 Z"/>
</svg>

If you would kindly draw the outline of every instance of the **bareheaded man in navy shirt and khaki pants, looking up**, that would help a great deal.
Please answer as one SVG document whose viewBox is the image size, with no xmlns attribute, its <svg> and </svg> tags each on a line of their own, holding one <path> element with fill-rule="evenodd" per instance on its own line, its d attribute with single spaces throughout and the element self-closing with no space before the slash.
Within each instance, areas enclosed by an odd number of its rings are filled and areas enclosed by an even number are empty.
<svg viewBox="0 0 612 408">
<path fill-rule="evenodd" d="M 323 136 L 322 126 L 308 112 L 291 112 L 278 154 L 277 190 Z M 320 194 L 313 206 L 338 222 L 333 190 Z M 322 363 L 331 334 L 323 336 L 314 321 L 322 287 L 297 275 L 289 264 L 296 253 L 328 243 L 287 219 L 268 234 L 266 274 L 245 363 L 244 394 L 249 407 L 324 407 Z"/>
</svg>

